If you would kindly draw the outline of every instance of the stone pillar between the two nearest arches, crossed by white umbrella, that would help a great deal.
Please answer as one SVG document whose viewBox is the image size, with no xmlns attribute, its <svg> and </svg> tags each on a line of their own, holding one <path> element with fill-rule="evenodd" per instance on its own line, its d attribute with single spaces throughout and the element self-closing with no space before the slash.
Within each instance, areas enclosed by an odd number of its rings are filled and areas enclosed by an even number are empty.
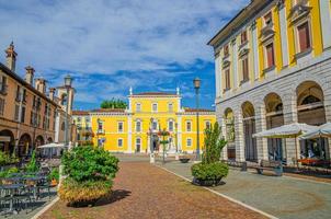
<svg viewBox="0 0 331 219">
<path fill-rule="evenodd" d="M 284 125 L 298 122 L 298 111 L 296 95 L 287 94 L 283 99 Z M 297 141 L 297 142 L 296 142 Z M 287 164 L 295 164 L 295 160 L 300 158 L 300 143 L 298 139 L 286 138 L 286 160 Z M 297 153 L 297 154 L 296 154 Z"/>
</svg>

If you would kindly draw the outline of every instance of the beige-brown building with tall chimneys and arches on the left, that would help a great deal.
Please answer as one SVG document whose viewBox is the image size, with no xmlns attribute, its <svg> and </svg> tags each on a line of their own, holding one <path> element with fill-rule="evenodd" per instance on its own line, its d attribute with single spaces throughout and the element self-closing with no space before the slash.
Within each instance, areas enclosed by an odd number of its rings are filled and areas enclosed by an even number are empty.
<svg viewBox="0 0 331 219">
<path fill-rule="evenodd" d="M 5 50 L 7 64 L 0 62 L 0 150 L 20 157 L 47 142 L 62 142 L 66 118 L 66 89 L 46 93 L 46 80 L 34 80 L 35 70 L 26 67 L 25 79 L 15 72 L 18 54 L 13 43 Z M 70 108 L 73 89 L 69 92 Z M 71 110 L 69 111 L 70 116 Z M 70 118 L 70 117 L 69 117 Z M 76 136 L 76 135 L 72 135 Z"/>
</svg>

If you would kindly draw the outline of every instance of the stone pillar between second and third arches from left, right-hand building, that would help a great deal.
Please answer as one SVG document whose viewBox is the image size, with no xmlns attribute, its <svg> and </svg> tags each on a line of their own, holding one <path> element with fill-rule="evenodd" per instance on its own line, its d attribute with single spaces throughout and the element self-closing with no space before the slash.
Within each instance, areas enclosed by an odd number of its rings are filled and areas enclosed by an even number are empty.
<svg viewBox="0 0 331 219">
<path fill-rule="evenodd" d="M 261 132 L 266 130 L 265 105 L 259 103 L 255 107 L 255 130 Z M 256 150 L 259 163 L 261 160 L 269 160 L 267 157 L 267 139 L 256 138 Z"/>
</svg>

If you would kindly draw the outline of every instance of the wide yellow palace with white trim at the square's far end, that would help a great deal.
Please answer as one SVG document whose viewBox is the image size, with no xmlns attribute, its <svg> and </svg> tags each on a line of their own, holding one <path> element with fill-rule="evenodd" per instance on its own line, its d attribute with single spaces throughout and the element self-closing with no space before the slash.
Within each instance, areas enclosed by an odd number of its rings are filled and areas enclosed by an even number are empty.
<svg viewBox="0 0 331 219">
<path fill-rule="evenodd" d="M 162 151 L 159 130 L 168 130 L 169 152 L 196 150 L 196 110 L 182 107 L 176 93 L 130 90 L 127 110 L 94 110 L 89 112 L 94 132 L 94 146 L 113 152 L 148 153 L 150 148 Z M 75 114 L 75 113 L 73 113 Z M 199 110 L 199 145 L 204 143 L 204 129 L 216 122 L 214 111 Z"/>
</svg>

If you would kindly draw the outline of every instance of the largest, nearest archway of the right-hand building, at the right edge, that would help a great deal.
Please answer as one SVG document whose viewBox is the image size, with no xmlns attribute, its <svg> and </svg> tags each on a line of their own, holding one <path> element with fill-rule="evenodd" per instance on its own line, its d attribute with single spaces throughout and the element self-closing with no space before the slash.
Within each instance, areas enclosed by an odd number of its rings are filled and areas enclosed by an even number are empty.
<svg viewBox="0 0 331 219">
<path fill-rule="evenodd" d="M 321 87 L 313 81 L 305 81 L 296 89 L 298 122 L 309 125 L 326 123 L 324 95 Z M 328 139 L 309 139 L 300 141 L 300 158 L 326 160 L 329 158 Z"/>
</svg>

